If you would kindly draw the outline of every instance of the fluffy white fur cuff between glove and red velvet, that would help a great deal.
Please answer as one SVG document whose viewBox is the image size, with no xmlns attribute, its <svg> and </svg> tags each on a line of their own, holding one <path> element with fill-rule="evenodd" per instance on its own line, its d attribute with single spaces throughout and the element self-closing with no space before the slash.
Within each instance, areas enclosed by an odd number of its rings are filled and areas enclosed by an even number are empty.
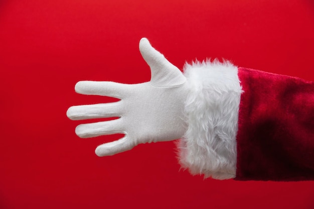
<svg viewBox="0 0 314 209">
<path fill-rule="evenodd" d="M 236 134 L 241 86 L 230 62 L 193 62 L 184 67 L 190 88 L 185 104 L 188 129 L 179 140 L 179 161 L 192 174 L 215 179 L 236 175 Z"/>
</svg>

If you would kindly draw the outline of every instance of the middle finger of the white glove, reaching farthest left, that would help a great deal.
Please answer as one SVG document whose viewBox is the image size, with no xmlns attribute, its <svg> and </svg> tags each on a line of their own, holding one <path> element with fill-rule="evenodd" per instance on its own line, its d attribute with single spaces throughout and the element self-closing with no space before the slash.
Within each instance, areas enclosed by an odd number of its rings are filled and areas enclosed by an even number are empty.
<svg viewBox="0 0 314 209">
<path fill-rule="evenodd" d="M 67 111 L 67 116 L 71 120 L 119 117 L 121 115 L 121 101 L 105 104 L 72 106 Z"/>
</svg>

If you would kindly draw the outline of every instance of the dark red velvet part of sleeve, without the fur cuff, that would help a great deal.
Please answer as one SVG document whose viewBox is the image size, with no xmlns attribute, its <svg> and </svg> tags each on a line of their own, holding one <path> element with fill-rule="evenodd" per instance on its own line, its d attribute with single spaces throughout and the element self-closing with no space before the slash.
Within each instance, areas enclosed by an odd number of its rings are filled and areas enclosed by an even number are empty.
<svg viewBox="0 0 314 209">
<path fill-rule="evenodd" d="M 314 82 L 239 68 L 236 180 L 314 180 Z"/>
</svg>

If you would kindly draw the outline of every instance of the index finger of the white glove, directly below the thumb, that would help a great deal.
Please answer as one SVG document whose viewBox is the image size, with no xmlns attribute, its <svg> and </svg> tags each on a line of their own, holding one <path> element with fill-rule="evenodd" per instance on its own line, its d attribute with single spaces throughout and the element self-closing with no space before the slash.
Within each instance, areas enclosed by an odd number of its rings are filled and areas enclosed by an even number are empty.
<svg viewBox="0 0 314 209">
<path fill-rule="evenodd" d="M 75 91 L 86 95 L 122 98 L 127 94 L 129 86 L 129 84 L 115 83 L 111 81 L 79 81 L 75 85 Z"/>
</svg>

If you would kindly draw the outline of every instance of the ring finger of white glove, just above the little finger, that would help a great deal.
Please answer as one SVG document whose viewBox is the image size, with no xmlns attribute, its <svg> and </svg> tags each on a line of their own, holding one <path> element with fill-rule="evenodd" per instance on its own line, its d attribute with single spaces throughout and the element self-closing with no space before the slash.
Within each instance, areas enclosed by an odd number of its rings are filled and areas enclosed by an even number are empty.
<svg viewBox="0 0 314 209">
<path fill-rule="evenodd" d="M 75 129 L 76 135 L 81 138 L 90 138 L 123 132 L 121 119 L 80 124 Z"/>
</svg>

